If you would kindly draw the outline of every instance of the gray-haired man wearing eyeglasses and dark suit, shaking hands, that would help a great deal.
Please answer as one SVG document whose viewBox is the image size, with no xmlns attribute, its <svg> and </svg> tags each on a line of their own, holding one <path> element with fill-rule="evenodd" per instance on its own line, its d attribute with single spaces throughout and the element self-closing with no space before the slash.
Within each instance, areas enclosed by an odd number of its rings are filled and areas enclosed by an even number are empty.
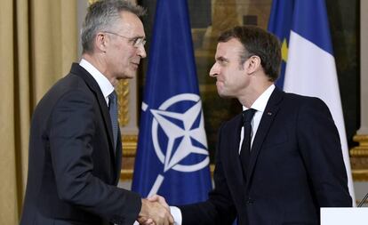
<svg viewBox="0 0 368 225">
<path fill-rule="evenodd" d="M 119 189 L 122 144 L 115 86 L 146 57 L 144 10 L 123 0 L 91 4 L 83 55 L 38 103 L 29 141 L 26 224 L 172 224 L 168 208 Z"/>
</svg>

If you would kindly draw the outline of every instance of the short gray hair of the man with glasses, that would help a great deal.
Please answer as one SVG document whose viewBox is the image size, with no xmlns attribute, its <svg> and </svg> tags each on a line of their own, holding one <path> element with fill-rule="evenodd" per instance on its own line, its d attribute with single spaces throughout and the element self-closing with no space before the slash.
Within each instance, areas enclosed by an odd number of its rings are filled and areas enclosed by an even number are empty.
<svg viewBox="0 0 368 225">
<path fill-rule="evenodd" d="M 93 52 L 93 39 L 100 31 L 114 28 L 121 20 L 120 12 L 132 12 L 138 17 L 146 11 L 137 4 L 126 0 L 100 0 L 88 7 L 82 27 L 83 52 Z"/>
</svg>

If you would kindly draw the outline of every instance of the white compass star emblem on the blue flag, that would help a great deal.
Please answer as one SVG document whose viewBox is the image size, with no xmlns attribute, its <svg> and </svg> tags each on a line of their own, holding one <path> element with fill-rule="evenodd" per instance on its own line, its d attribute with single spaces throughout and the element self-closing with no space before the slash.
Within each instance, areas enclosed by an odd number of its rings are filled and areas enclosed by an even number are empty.
<svg viewBox="0 0 368 225">
<path fill-rule="evenodd" d="M 185 112 L 170 111 L 173 104 L 180 101 L 194 101 L 194 105 Z M 204 115 L 202 112 L 202 101 L 197 94 L 182 93 L 165 100 L 157 109 L 150 109 L 154 119 L 152 122 L 152 141 L 156 155 L 164 164 L 164 173 L 170 169 L 183 173 L 195 172 L 203 169 L 209 164 L 210 159 L 207 151 L 207 140 L 204 132 Z M 196 125 L 199 118 L 199 125 Z M 174 123 L 173 121 L 180 122 Z M 167 139 L 164 145 L 158 140 L 158 127 L 161 127 Z M 197 142 L 197 144 L 194 144 Z M 161 146 L 166 146 L 165 152 Z M 183 165 L 180 162 L 190 154 L 204 155 L 204 159 L 194 165 Z M 156 182 L 148 196 L 156 194 L 160 188 L 164 176 L 158 174 Z"/>
</svg>

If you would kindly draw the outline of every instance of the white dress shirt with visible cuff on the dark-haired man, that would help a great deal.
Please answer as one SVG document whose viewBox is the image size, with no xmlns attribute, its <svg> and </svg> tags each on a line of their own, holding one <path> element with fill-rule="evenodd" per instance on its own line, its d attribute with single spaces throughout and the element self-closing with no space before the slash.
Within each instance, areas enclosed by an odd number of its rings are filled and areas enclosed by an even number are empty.
<svg viewBox="0 0 368 225">
<path fill-rule="evenodd" d="M 251 125 L 252 125 L 252 140 L 251 140 L 251 147 L 254 141 L 254 137 L 255 135 L 253 135 L 253 133 L 257 133 L 258 127 L 260 126 L 260 118 L 263 115 L 263 112 L 265 111 L 265 108 L 267 106 L 269 97 L 271 96 L 272 92 L 274 92 L 275 90 L 275 84 L 272 84 L 268 87 L 268 89 L 266 89 L 265 92 L 263 92 L 262 94 L 260 94 L 260 97 L 258 97 L 257 100 L 255 100 L 251 106 L 251 108 L 256 109 L 257 111 L 254 113 L 254 117 L 252 118 L 251 121 Z M 246 110 L 249 108 L 246 108 L 243 106 L 243 110 Z M 239 154 L 240 154 L 240 150 L 242 149 L 242 141 L 244 138 L 244 127 L 242 127 L 242 131 L 240 133 L 240 143 L 239 143 Z M 252 148 L 251 148 L 252 149 Z M 176 207 L 176 206 L 170 206 L 170 212 L 172 213 L 172 217 L 174 219 L 174 224 L 175 225 L 181 225 L 182 223 L 182 216 L 181 216 L 181 211 L 180 208 Z"/>
</svg>

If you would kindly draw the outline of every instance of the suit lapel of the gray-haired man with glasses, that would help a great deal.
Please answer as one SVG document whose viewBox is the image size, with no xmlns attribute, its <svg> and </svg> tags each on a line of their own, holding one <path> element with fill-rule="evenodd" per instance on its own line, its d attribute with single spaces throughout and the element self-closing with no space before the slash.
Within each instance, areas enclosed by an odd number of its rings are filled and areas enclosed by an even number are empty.
<svg viewBox="0 0 368 225">
<path fill-rule="evenodd" d="M 106 104 L 106 100 L 103 97 L 103 94 L 101 92 L 100 86 L 99 84 L 97 84 L 97 82 L 93 79 L 93 77 L 81 66 L 79 66 L 79 64 L 77 63 L 73 63 L 72 68 L 71 68 L 71 73 L 75 74 L 76 76 L 80 76 L 84 79 L 84 82 L 90 87 L 90 89 L 92 90 L 92 92 L 94 92 L 98 102 L 99 102 L 99 106 L 100 106 L 100 111 L 102 113 L 103 116 L 103 122 L 105 124 L 105 128 L 106 131 L 108 132 L 108 140 L 109 140 L 109 150 L 110 150 L 110 155 L 113 157 L 112 161 L 115 162 L 114 156 L 115 156 L 115 149 L 116 147 L 114 147 L 114 136 L 112 133 L 112 126 L 111 126 L 111 118 L 110 118 L 110 114 L 108 112 L 108 105 Z"/>
</svg>

